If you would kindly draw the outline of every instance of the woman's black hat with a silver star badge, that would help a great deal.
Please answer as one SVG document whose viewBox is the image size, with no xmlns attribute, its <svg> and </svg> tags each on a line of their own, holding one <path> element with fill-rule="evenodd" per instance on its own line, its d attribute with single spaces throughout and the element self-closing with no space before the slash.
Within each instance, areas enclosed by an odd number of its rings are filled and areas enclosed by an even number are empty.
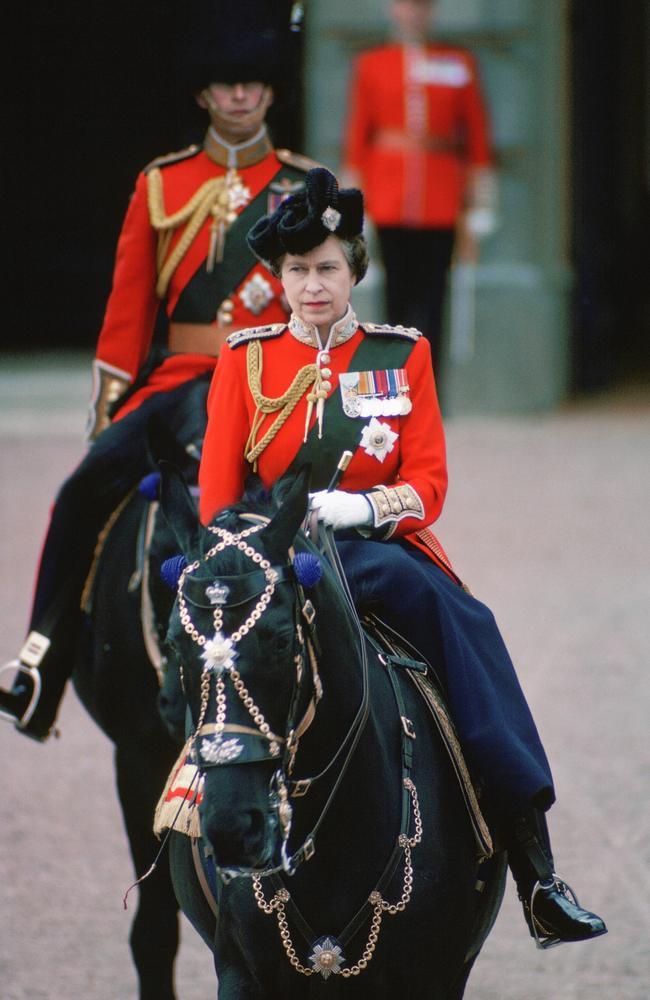
<svg viewBox="0 0 650 1000">
<path fill-rule="evenodd" d="M 307 173 L 305 187 L 290 195 L 272 215 L 265 215 L 248 231 L 246 240 L 262 261 L 285 253 L 308 253 L 328 236 L 353 239 L 363 230 L 363 195 L 356 188 L 339 186 L 325 167 Z"/>
</svg>

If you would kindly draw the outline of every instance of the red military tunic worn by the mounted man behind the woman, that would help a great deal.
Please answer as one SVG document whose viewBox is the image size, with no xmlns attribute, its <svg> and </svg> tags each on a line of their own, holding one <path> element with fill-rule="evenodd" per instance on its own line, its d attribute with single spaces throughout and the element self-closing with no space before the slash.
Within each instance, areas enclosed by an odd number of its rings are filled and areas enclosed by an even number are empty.
<svg viewBox="0 0 650 1000">
<path fill-rule="evenodd" d="M 239 155 L 235 161 L 236 173 L 230 174 L 229 189 L 234 190 L 234 196 L 228 206 L 230 218 L 223 227 L 223 258 L 228 265 L 232 265 L 233 258 L 238 264 L 234 271 L 230 266 L 230 273 L 236 275 L 234 283 L 227 285 L 221 281 L 219 269 L 224 264 L 218 255 L 213 261 L 213 277 L 205 274 L 214 218 L 208 212 L 185 253 L 178 255 L 178 263 L 166 276 L 164 287 L 161 285 L 161 268 L 178 253 L 179 243 L 187 241 L 192 219 L 169 227 L 168 242 L 163 243 L 167 230 L 156 224 L 159 220 L 155 214 L 153 179 L 157 175 L 158 214 L 162 213 L 165 225 L 170 219 L 173 223 L 174 215 L 190 206 L 207 182 L 225 177 L 229 170 L 227 163 L 217 162 L 223 159 L 217 155 L 221 149 L 208 133 L 203 148 L 194 146 L 162 157 L 139 174 L 117 246 L 113 287 L 97 343 L 96 368 L 128 382 L 135 378 L 151 348 L 156 315 L 163 299 L 171 323 L 212 324 L 215 329 L 219 325 L 236 330 L 260 322 L 286 320 L 282 287 L 254 260 L 246 246 L 244 230 L 259 216 L 272 211 L 283 194 L 302 187 L 304 171 L 314 164 L 286 150 L 273 150 L 265 134 L 256 148 L 249 149 L 246 156 Z M 247 221 L 235 237 L 229 229 L 240 215 L 242 223 L 244 217 Z M 201 281 L 205 285 L 210 280 L 213 290 L 201 289 Z M 194 291 L 197 287 L 198 294 Z M 151 394 L 173 389 L 211 371 L 216 364 L 216 353 L 216 350 L 214 353 L 181 350 L 166 357 L 147 384 L 120 409 L 119 417 Z"/>
</svg>

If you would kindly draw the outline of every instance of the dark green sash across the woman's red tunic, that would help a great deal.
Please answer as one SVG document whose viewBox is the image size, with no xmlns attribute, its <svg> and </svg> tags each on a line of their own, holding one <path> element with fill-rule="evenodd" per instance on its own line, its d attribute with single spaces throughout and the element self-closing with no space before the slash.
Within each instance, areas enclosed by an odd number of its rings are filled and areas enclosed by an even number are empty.
<svg viewBox="0 0 650 1000">
<path fill-rule="evenodd" d="M 365 371 L 380 365 L 383 368 L 404 368 L 415 342 L 405 337 L 384 337 L 386 334 L 379 338 L 366 333 L 350 360 L 350 369 Z M 365 426 L 363 418 L 348 417 L 343 412 L 339 385 L 325 401 L 322 438 L 318 437 L 318 424 L 314 424 L 285 475 L 295 474 L 302 465 L 311 465 L 310 489 L 326 489 L 343 452 L 354 454 L 359 447 Z"/>
</svg>

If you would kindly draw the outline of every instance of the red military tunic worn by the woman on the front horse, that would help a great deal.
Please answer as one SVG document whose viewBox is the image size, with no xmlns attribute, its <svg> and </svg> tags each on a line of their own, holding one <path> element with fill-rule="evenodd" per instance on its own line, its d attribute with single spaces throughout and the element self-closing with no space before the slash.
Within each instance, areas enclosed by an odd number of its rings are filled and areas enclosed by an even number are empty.
<svg viewBox="0 0 650 1000">
<path fill-rule="evenodd" d="M 372 329 L 372 325 L 368 329 Z M 377 332 L 380 331 L 385 333 L 385 329 L 377 328 Z M 425 532 L 425 537 L 418 538 L 414 532 L 434 521 L 442 509 L 447 488 L 444 432 L 428 341 L 417 331 L 402 329 L 400 334 L 398 328 L 394 332 L 402 336 L 410 334 L 415 341 L 405 364 L 404 379 L 412 408 L 406 415 L 377 418 L 397 435 L 392 450 L 380 461 L 376 452 L 360 444 L 343 475 L 340 489 L 371 491 L 379 484 L 389 488 L 410 487 L 409 492 L 415 497 L 415 502 L 410 504 L 413 513 L 409 514 L 405 508 L 391 534 L 408 537 L 431 555 L 432 541 L 435 543 L 433 536 L 427 538 L 430 532 Z M 334 324 L 333 333 L 327 352 L 329 358 L 325 359 L 330 386 L 328 395 L 333 405 L 341 406 L 341 375 L 350 371 L 351 364 L 354 367 L 355 351 L 371 334 L 357 324 L 351 311 Z M 247 344 L 259 339 L 263 354 L 262 392 L 265 397 L 277 398 L 286 393 L 303 366 L 317 360 L 320 344 L 316 336 L 314 327 L 293 316 L 289 327 L 262 327 L 229 338 L 221 352 L 208 397 L 208 427 L 199 472 L 200 514 L 204 524 L 209 523 L 220 509 L 241 499 L 244 481 L 252 468 L 245 455 L 250 448 L 249 435 L 257 407 L 249 384 Z M 381 369 L 382 337 L 376 339 L 373 365 Z M 265 487 L 270 488 L 280 479 L 299 451 L 305 435 L 307 411 L 305 393 L 281 430 L 259 455 L 256 471 Z M 276 417 L 277 413 L 264 416 L 255 435 L 256 441 L 263 438 Z M 326 422 L 330 419 L 327 411 L 324 419 Z M 309 427 L 315 422 L 314 412 Z M 369 421 L 361 418 L 355 423 L 360 438 Z M 444 554 L 442 556 L 444 559 Z"/>
</svg>

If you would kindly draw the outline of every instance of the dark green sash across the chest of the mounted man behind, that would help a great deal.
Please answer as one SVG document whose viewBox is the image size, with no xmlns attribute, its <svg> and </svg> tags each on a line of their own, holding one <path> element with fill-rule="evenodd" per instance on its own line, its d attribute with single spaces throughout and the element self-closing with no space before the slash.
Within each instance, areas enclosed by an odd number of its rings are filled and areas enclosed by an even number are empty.
<svg viewBox="0 0 650 1000">
<path fill-rule="evenodd" d="M 256 258 L 248 249 L 246 233 L 258 219 L 268 213 L 270 185 L 284 177 L 296 180 L 304 176 L 300 170 L 292 170 L 283 165 L 246 205 L 226 230 L 223 260 L 215 264 L 212 273 L 206 270 L 205 261 L 201 261 L 181 292 L 171 317 L 175 323 L 214 323 L 217 309 L 223 300 L 239 288 L 256 263 Z"/>
</svg>

